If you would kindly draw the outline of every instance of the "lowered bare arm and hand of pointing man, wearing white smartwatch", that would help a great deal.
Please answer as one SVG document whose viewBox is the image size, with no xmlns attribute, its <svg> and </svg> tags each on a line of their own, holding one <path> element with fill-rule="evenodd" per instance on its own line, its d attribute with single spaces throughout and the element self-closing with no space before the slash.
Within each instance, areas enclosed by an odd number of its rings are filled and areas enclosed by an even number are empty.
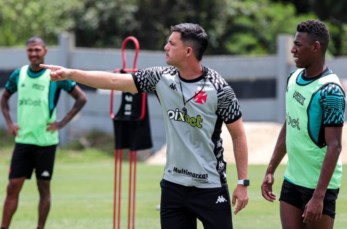
<svg viewBox="0 0 347 229">
<path fill-rule="evenodd" d="M 237 177 L 238 180 L 247 178 L 248 151 L 245 129 L 243 127 L 242 118 L 235 122 L 226 124 L 234 148 Z M 238 184 L 234 193 L 232 193 L 232 206 L 235 205 L 237 199 L 235 214 L 241 211 L 248 204 L 248 189 L 247 186 Z"/>
</svg>

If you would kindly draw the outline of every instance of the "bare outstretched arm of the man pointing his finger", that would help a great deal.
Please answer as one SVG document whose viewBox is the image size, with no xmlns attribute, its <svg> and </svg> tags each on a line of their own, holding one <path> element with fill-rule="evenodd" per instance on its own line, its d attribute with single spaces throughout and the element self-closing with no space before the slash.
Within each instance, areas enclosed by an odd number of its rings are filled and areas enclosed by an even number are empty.
<svg viewBox="0 0 347 229">
<path fill-rule="evenodd" d="M 93 88 L 127 91 L 133 93 L 138 92 L 131 74 L 116 74 L 102 71 L 82 71 L 46 64 L 40 64 L 40 67 L 51 70 L 50 76 L 53 82 L 70 79 Z"/>
</svg>

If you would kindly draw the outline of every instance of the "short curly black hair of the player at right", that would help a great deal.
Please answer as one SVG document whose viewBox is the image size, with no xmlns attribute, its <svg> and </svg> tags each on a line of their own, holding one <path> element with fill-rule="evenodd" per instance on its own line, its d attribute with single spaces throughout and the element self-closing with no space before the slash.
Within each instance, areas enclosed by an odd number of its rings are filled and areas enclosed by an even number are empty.
<svg viewBox="0 0 347 229">
<path fill-rule="evenodd" d="M 322 50 L 327 51 L 330 35 L 324 22 L 320 20 L 307 20 L 298 24 L 296 31 L 307 33 L 312 39 L 312 43 L 318 41 L 321 44 Z"/>
</svg>

